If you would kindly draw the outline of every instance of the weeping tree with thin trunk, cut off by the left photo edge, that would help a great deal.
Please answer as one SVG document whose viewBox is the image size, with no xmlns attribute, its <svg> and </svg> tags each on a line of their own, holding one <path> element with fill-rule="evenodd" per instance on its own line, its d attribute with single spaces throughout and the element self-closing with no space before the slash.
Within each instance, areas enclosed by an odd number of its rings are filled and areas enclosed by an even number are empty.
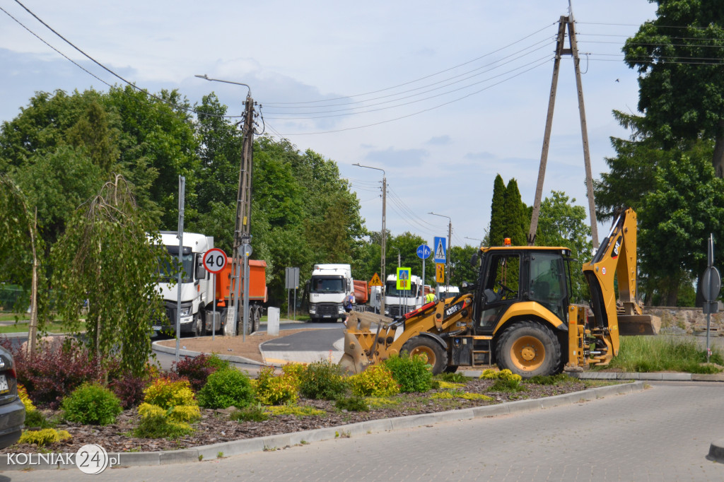
<svg viewBox="0 0 724 482">
<path fill-rule="evenodd" d="M 37 214 L 30 214 L 20 187 L 7 175 L 0 174 L 0 232 L 4 233 L 0 236 L 0 253 L 4 253 L 4 259 L 0 260 L 0 281 L 18 282 L 26 294 L 30 281 L 30 299 L 22 296 L 12 308 L 17 312 L 30 303 L 28 350 L 31 354 L 35 352 L 38 335 L 38 253 L 43 250 L 37 219 Z M 30 276 L 29 262 L 32 263 Z"/>
</svg>

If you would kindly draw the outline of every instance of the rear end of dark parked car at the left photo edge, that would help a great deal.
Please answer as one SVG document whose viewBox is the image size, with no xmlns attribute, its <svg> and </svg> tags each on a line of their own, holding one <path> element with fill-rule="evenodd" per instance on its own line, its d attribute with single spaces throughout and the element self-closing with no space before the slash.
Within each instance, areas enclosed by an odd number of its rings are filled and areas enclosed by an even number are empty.
<svg viewBox="0 0 724 482">
<path fill-rule="evenodd" d="M 0 449 L 20 439 L 25 405 L 17 396 L 17 373 L 10 352 L 0 347 Z"/>
</svg>

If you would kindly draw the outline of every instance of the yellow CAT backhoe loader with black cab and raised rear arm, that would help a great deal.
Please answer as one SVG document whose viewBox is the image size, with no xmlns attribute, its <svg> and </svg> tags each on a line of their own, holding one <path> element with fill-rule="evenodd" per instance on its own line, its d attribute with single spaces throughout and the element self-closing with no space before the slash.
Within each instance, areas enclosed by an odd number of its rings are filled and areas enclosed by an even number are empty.
<svg viewBox="0 0 724 482">
<path fill-rule="evenodd" d="M 353 313 L 340 365 L 359 373 L 406 351 L 425 355 L 433 373 L 497 364 L 530 378 L 607 365 L 618 355 L 620 334 L 657 332 L 658 318 L 644 316 L 636 303 L 633 210 L 618 216 L 584 264 L 589 306 L 570 303 L 570 255 L 568 248 L 480 248 L 477 282 L 463 283 L 469 292 L 392 321 Z"/>
</svg>

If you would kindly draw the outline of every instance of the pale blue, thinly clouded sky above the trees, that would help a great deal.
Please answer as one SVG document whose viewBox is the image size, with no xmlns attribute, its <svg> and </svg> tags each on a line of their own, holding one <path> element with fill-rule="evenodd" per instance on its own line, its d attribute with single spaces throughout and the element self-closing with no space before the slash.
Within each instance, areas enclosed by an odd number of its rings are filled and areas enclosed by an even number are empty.
<svg viewBox="0 0 724 482">
<path fill-rule="evenodd" d="M 213 91 L 237 115 L 247 88 L 195 75 L 247 84 L 261 104 L 266 134 L 337 162 L 370 230 L 382 224 L 383 172 L 353 164 L 384 169 L 387 229 L 429 244 L 447 237 L 449 221 L 452 245 L 479 244 L 497 174 L 506 183 L 517 180 L 524 203 L 534 201 L 557 22 L 568 15 L 568 0 L 22 5 L 151 92 L 177 89 L 200 103 Z M 38 91 L 122 84 L 22 5 L 0 0 L 0 122 L 16 117 Z M 655 18 L 655 4 L 573 0 L 573 17 L 596 179 L 607 171 L 605 158 L 615 155 L 610 137 L 628 137 L 612 111 L 637 112 L 637 74 L 620 49 Z M 544 196 L 551 190 L 588 212 L 571 56 L 560 62 Z M 598 231 L 600 239 L 607 226 L 599 223 Z"/>
</svg>

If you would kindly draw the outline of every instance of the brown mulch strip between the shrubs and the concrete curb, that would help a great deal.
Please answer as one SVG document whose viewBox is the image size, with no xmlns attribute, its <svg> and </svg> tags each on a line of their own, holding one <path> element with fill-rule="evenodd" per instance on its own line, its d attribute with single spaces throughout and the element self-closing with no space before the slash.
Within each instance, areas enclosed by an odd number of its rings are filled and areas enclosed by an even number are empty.
<svg viewBox="0 0 724 482">
<path fill-rule="evenodd" d="M 422 413 L 443 412 L 468 407 L 494 405 L 511 402 L 519 399 L 536 399 L 550 397 L 586 389 L 589 384 L 584 381 L 571 379 L 557 385 L 523 384 L 524 392 L 489 392 L 492 385 L 490 380 L 470 379 L 466 386 L 461 388 L 464 392 L 487 394 L 493 398 L 492 402 L 466 399 L 433 399 L 430 395 L 433 390 L 425 394 L 401 394 L 397 397 L 402 402 L 389 408 L 370 408 L 369 412 L 345 412 L 337 410 L 334 402 L 326 400 L 300 399 L 298 405 L 307 405 L 324 410 L 325 415 L 296 417 L 294 415 L 279 415 L 271 417 L 264 422 L 236 422 L 231 420 L 228 410 L 201 409 L 201 420 L 193 423 L 195 432 L 177 440 L 167 439 L 138 439 L 132 436 L 132 429 L 138 425 L 138 411 L 126 410 L 119 415 L 116 423 L 109 426 L 83 426 L 68 423 L 58 426 L 70 432 L 72 439 L 42 447 L 42 452 L 70 453 L 85 444 L 100 444 L 108 452 L 156 452 L 161 450 L 188 449 L 203 445 L 216 444 L 225 441 L 251 439 L 267 435 L 287 434 L 314 428 L 327 428 L 357 423 L 365 420 L 379 420 L 382 418 L 402 417 L 405 415 L 418 415 Z M 46 415 L 54 415 L 46 412 Z M 0 453 L 37 452 L 38 447 L 28 444 L 16 444 Z"/>
</svg>

